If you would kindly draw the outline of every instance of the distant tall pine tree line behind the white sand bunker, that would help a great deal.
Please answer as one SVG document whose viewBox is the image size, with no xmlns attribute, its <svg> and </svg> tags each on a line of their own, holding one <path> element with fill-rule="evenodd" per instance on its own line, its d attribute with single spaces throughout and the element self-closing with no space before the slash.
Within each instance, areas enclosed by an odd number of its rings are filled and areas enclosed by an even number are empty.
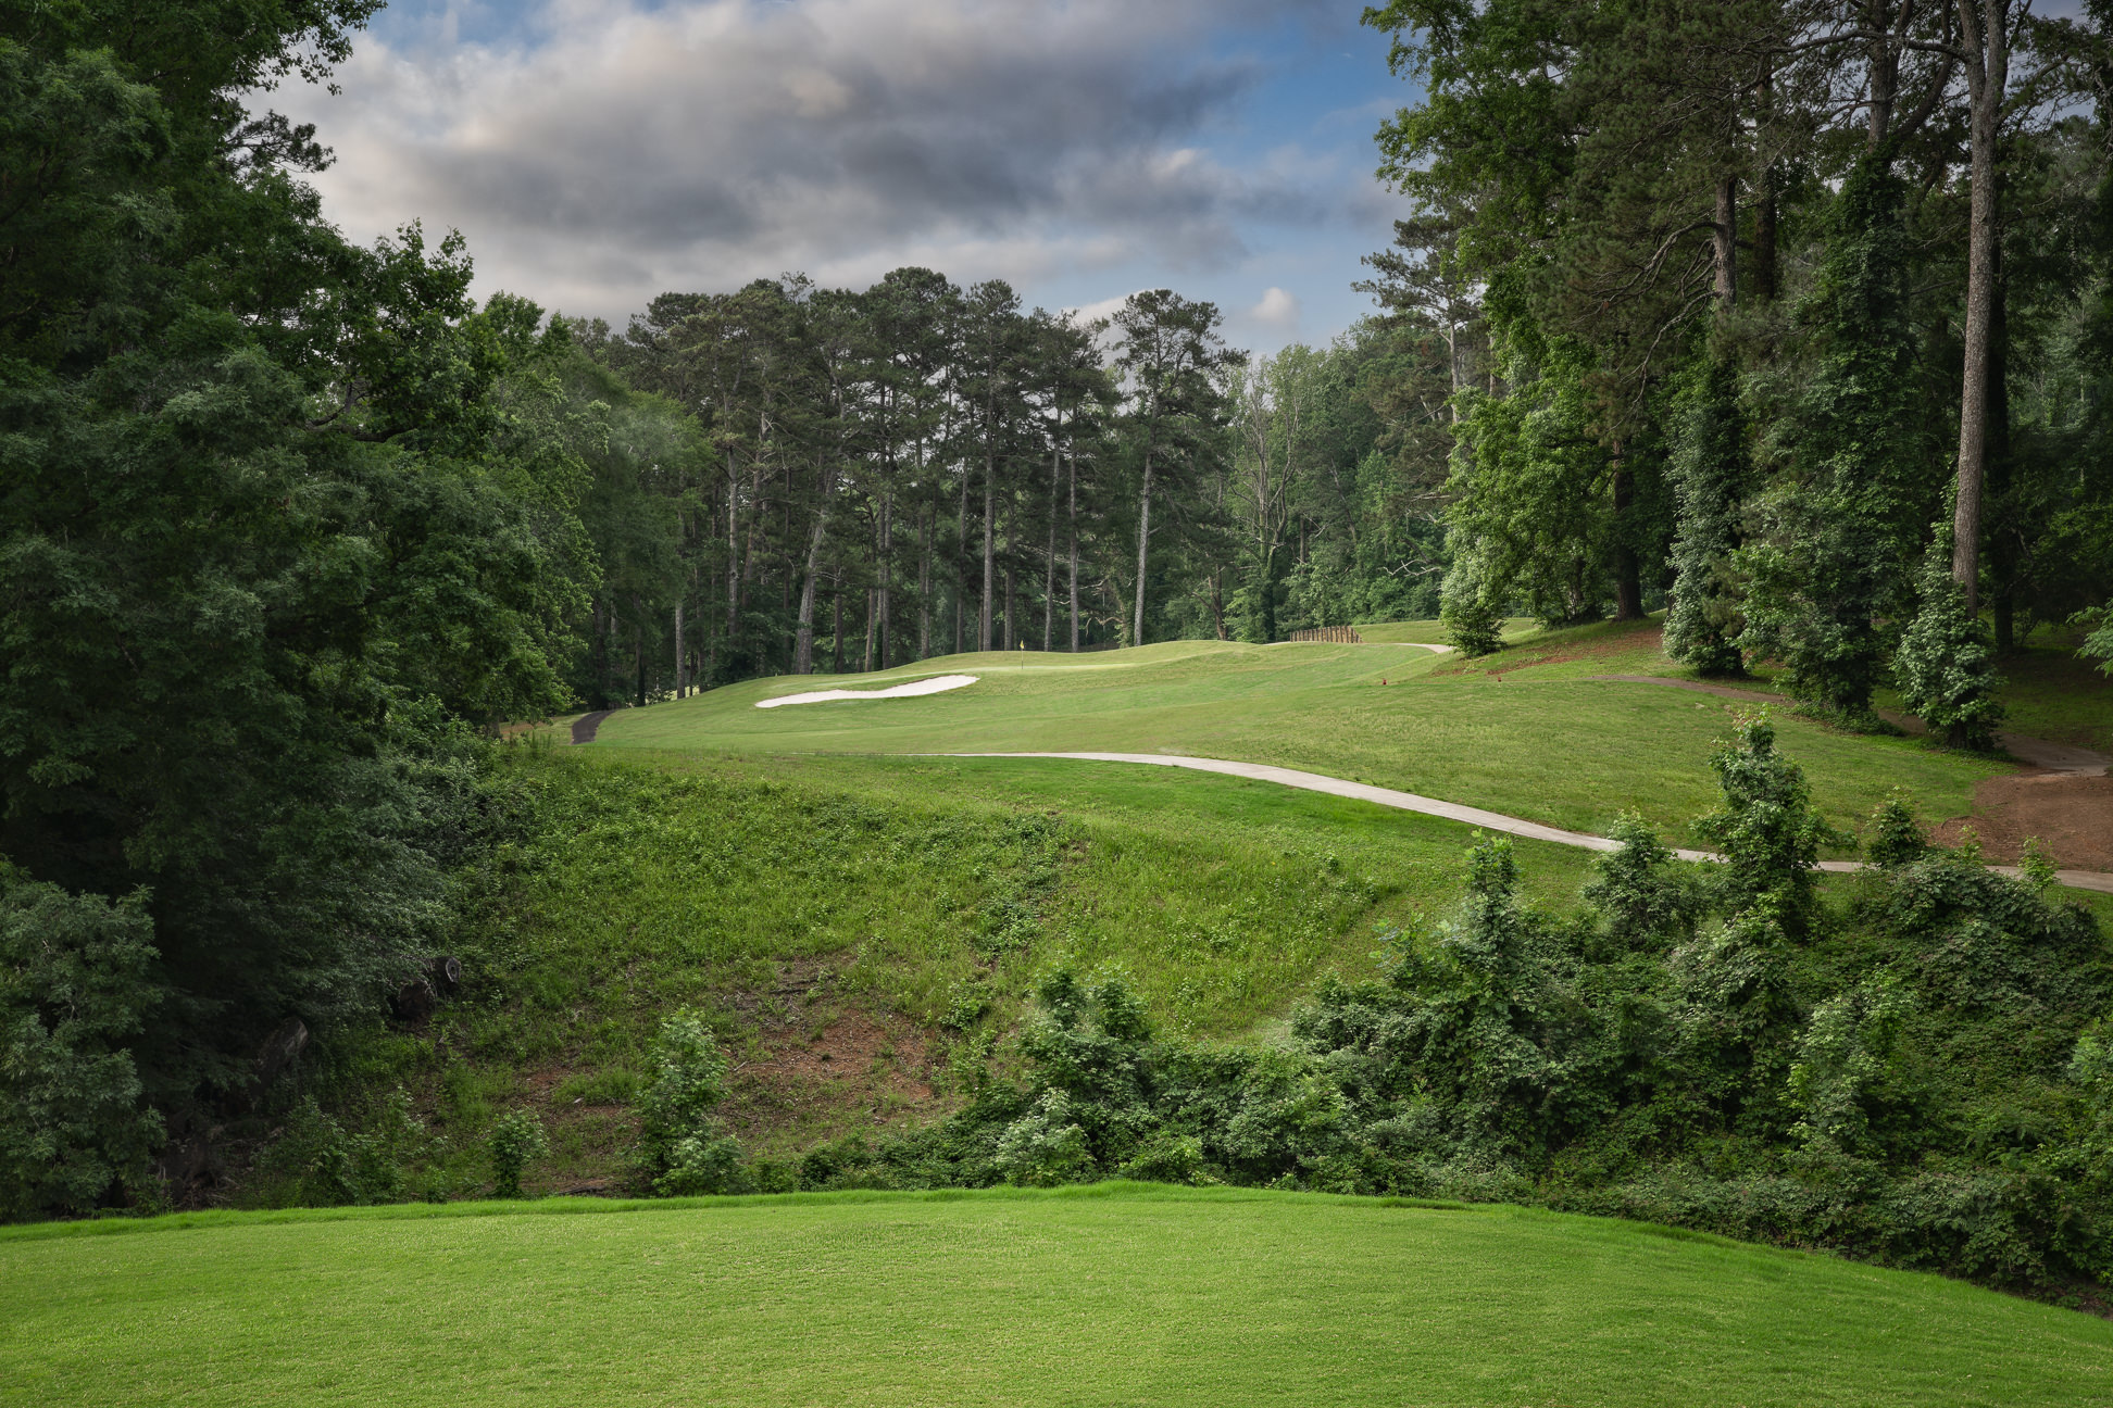
<svg viewBox="0 0 2113 1408">
<path fill-rule="evenodd" d="M 1414 327 L 1249 357 L 1171 289 L 1084 321 L 925 268 L 560 327 L 600 369 L 581 395 L 651 399 L 668 452 L 613 450 L 594 488 L 594 707 L 1437 606 L 1443 448 L 1397 386 L 1433 355 Z"/>
</svg>

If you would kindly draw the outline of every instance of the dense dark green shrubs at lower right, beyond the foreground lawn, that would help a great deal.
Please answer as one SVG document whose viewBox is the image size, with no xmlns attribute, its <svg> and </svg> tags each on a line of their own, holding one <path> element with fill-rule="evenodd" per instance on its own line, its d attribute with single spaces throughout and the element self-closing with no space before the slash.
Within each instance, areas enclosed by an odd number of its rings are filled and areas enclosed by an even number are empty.
<svg viewBox="0 0 2113 1408">
<path fill-rule="evenodd" d="M 1933 851 L 1897 804 L 1838 903 L 1826 825 L 1747 722 L 1716 760 L 1722 868 L 1640 823 L 1574 916 L 1509 840 L 1441 925 L 1382 935 L 1276 1047 L 1158 1034 L 1120 975 L 1059 969 L 953 1121 L 748 1186 L 1234 1182 L 1542 1201 L 2060 1290 L 2113 1275 L 2107 939 L 2043 882 Z M 1900 815 L 1891 815 L 1900 813 Z"/>
</svg>

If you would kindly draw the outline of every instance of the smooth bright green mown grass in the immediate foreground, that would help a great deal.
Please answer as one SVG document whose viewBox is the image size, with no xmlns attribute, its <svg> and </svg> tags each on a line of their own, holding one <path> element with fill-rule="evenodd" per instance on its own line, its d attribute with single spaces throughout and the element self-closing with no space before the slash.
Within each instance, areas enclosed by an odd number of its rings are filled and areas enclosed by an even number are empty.
<svg viewBox="0 0 2113 1408">
<path fill-rule="evenodd" d="M 2073 1311 L 1509 1207 L 1101 1184 L 0 1233 L 23 1404 L 2109 1395 L 2113 1326 Z"/>
</svg>

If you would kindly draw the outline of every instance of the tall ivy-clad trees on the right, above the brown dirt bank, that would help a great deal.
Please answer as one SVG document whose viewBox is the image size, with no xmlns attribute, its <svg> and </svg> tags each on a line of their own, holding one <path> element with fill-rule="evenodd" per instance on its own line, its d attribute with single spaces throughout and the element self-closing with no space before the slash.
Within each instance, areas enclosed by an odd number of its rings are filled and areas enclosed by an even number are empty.
<svg viewBox="0 0 2113 1408">
<path fill-rule="evenodd" d="M 2102 6 L 1392 0 L 1390 298 L 1458 329 L 1469 648 L 1665 606 L 1961 743 L 2041 625 L 2113 661 Z M 1984 625 L 1986 616 L 1986 625 Z"/>
</svg>

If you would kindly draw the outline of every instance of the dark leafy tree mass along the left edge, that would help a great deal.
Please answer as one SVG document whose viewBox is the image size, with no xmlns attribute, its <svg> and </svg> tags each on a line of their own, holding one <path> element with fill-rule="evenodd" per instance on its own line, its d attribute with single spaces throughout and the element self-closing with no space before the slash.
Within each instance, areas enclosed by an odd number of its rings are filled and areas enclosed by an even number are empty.
<svg viewBox="0 0 2113 1408">
<path fill-rule="evenodd" d="M 239 101 L 372 8 L 0 17 L 8 1214 L 148 1195 L 163 1134 L 418 979 L 478 728 L 568 697 L 562 334 L 454 239 L 342 243 L 328 154 Z"/>
</svg>

